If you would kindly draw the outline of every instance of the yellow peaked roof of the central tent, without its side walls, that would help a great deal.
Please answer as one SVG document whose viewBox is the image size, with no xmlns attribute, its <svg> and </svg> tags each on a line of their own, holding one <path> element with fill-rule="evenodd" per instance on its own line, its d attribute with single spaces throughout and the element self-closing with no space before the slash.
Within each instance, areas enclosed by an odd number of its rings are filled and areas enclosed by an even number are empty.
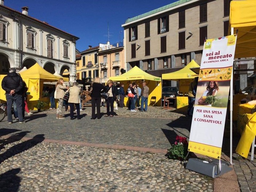
<svg viewBox="0 0 256 192">
<path fill-rule="evenodd" d="M 110 77 L 112 81 L 129 81 L 129 80 L 141 80 L 147 79 L 152 81 L 161 81 L 160 77 L 155 77 L 154 75 L 150 75 L 145 71 L 141 70 L 139 67 L 135 66 L 131 70 L 127 71 L 126 73 L 116 76 Z"/>
</svg>

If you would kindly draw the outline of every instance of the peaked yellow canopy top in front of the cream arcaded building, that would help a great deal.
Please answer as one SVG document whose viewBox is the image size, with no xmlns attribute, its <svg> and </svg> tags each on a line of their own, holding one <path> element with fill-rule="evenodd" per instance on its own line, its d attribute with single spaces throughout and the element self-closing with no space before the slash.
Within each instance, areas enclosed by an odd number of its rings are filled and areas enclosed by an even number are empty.
<svg viewBox="0 0 256 192">
<path fill-rule="evenodd" d="M 22 79 L 40 79 L 40 81 L 46 79 L 47 81 L 58 81 L 59 76 L 53 75 L 44 70 L 38 63 L 35 63 L 28 70 L 20 73 Z M 63 78 L 64 81 L 69 81 L 69 78 Z"/>
</svg>

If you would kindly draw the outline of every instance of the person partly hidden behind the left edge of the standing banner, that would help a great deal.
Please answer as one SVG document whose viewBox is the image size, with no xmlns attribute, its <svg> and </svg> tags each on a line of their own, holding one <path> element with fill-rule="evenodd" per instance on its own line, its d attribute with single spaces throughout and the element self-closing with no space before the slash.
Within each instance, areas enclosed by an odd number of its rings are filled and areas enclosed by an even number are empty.
<svg viewBox="0 0 256 192">
<path fill-rule="evenodd" d="M 187 107 L 187 116 L 192 117 L 195 103 L 195 94 L 197 92 L 198 77 L 195 77 L 189 84 L 189 92 L 187 94 L 189 99 L 189 107 Z"/>
</svg>

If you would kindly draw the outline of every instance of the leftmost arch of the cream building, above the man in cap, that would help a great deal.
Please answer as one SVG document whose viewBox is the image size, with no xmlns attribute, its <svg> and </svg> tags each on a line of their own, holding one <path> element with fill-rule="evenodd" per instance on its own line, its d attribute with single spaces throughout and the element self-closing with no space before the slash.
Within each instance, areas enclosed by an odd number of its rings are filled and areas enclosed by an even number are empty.
<svg viewBox="0 0 256 192">
<path fill-rule="evenodd" d="M 11 55 L 5 51 L 0 51 L 0 74 L 7 74 L 10 67 L 16 67 Z"/>
</svg>

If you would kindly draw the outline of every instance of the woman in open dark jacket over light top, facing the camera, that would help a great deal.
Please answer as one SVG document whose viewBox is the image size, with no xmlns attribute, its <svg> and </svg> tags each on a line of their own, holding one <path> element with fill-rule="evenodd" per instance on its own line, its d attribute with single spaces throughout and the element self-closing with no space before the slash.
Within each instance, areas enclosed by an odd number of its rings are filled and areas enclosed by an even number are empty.
<svg viewBox="0 0 256 192">
<path fill-rule="evenodd" d="M 114 117 L 114 101 L 116 98 L 116 91 L 117 88 L 115 89 L 115 87 L 112 87 L 113 85 L 113 81 L 112 80 L 108 80 L 108 82 L 106 83 L 106 91 L 105 93 L 107 93 L 109 96 L 106 99 L 106 105 L 107 105 L 107 114 L 105 115 L 105 117 Z M 110 111 L 109 111 L 109 107 L 110 107 Z"/>
</svg>

